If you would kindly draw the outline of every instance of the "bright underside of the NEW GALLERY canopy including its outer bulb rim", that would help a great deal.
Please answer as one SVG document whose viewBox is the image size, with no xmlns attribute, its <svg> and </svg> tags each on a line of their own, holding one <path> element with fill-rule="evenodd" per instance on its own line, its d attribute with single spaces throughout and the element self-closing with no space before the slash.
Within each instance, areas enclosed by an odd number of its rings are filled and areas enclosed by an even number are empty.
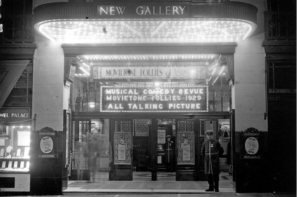
<svg viewBox="0 0 297 197">
<path fill-rule="evenodd" d="M 245 21 L 75 21 L 40 22 L 38 30 L 51 40 L 82 43 L 232 42 L 245 39 L 252 25 Z M 104 30 L 104 31 L 103 31 Z"/>
</svg>

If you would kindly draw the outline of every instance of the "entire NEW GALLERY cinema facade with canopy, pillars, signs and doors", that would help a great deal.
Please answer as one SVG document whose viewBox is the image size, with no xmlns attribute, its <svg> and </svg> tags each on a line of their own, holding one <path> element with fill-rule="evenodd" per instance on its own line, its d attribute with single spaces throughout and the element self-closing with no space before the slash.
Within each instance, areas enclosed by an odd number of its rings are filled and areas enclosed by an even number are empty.
<svg viewBox="0 0 297 197">
<path fill-rule="evenodd" d="M 70 180 L 97 179 L 96 171 L 105 173 L 98 180 L 149 172 L 158 181 L 166 135 L 175 143 L 175 180 L 206 181 L 200 149 L 208 129 L 225 149 L 221 171 L 232 174 L 236 192 L 271 191 L 265 7 L 245 2 L 35 5 L 36 45 L 26 46 L 34 54 L 23 172 L 30 184 L 18 192 L 62 194 Z"/>
</svg>

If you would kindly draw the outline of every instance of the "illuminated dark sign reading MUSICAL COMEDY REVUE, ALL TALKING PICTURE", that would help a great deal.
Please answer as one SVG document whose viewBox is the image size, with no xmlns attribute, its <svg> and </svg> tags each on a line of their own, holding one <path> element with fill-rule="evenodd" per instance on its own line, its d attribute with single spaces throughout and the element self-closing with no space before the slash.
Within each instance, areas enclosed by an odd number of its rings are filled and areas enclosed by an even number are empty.
<svg viewBox="0 0 297 197">
<path fill-rule="evenodd" d="M 208 86 L 101 86 L 101 112 L 208 112 Z"/>
</svg>

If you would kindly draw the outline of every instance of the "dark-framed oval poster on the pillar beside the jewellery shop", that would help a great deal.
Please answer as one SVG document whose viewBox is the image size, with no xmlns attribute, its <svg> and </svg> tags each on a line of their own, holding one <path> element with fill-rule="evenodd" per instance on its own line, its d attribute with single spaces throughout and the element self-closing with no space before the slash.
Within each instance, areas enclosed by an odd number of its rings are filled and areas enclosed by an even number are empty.
<svg viewBox="0 0 297 197">
<path fill-rule="evenodd" d="M 44 127 L 37 132 L 37 157 L 57 158 L 57 131 Z"/>
</svg>

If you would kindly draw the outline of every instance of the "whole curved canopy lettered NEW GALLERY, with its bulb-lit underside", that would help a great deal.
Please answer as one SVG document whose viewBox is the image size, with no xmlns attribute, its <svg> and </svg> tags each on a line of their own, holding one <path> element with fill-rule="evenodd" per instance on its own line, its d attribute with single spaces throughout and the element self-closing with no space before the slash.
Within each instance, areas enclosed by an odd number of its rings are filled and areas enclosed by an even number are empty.
<svg viewBox="0 0 297 197">
<path fill-rule="evenodd" d="M 65 43 L 237 42 L 257 28 L 257 8 L 242 2 L 49 3 L 34 28 Z"/>
</svg>

